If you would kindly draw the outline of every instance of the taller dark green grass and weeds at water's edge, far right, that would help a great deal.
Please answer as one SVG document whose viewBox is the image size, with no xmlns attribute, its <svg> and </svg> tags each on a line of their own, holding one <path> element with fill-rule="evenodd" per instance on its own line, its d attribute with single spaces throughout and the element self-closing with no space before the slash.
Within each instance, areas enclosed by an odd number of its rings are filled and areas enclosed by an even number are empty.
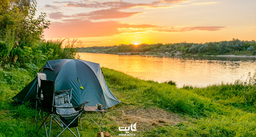
<svg viewBox="0 0 256 137">
<path fill-rule="evenodd" d="M 225 106 L 234 106 L 247 111 L 256 111 L 256 71 L 248 78 L 234 83 L 222 83 L 191 90 L 201 96 L 212 98 Z"/>
</svg>

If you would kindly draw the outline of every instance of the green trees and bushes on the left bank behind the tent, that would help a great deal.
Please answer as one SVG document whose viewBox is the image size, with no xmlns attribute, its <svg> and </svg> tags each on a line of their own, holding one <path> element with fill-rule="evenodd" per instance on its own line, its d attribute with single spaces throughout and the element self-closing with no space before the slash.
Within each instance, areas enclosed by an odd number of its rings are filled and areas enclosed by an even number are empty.
<svg viewBox="0 0 256 137">
<path fill-rule="evenodd" d="M 78 40 L 44 40 L 50 21 L 46 13 L 35 17 L 36 0 L 0 1 L 0 68 L 40 66 L 47 60 L 78 58 Z M 64 44 L 65 40 L 65 44 Z"/>
</svg>

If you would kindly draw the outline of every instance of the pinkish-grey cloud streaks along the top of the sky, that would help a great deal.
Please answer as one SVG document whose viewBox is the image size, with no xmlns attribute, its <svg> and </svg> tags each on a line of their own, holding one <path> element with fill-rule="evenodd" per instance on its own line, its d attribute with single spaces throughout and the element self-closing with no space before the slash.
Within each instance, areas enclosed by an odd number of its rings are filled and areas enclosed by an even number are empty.
<svg viewBox="0 0 256 137">
<path fill-rule="evenodd" d="M 50 14 L 50 18 L 61 19 L 63 17 L 86 17 L 90 20 L 99 20 L 99 19 L 113 19 L 113 18 L 125 18 L 131 17 L 143 12 L 122 12 L 120 10 L 132 8 L 132 7 L 143 7 L 143 8 L 166 8 L 173 5 L 172 3 L 180 3 L 187 0 L 160 0 L 151 3 L 131 3 L 123 1 L 109 1 L 109 2 L 98 2 L 98 1 L 88 1 L 84 0 L 81 2 L 72 2 L 72 1 L 63 1 L 63 2 L 54 2 L 58 4 L 64 4 L 64 7 L 85 7 L 85 8 L 107 8 L 96 10 L 89 13 L 78 13 L 72 16 L 65 16 L 61 12 L 55 12 Z M 164 4 L 161 4 L 164 3 Z M 169 4 L 169 5 L 168 5 Z M 57 8 L 56 6 L 45 5 L 48 8 Z"/>
</svg>

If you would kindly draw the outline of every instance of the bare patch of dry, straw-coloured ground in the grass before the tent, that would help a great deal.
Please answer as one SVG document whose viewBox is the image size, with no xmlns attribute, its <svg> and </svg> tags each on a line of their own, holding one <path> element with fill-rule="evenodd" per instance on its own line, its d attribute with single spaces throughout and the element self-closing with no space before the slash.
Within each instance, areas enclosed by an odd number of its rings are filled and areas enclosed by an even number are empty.
<svg viewBox="0 0 256 137">
<path fill-rule="evenodd" d="M 160 108 L 131 108 L 120 107 L 118 109 L 119 115 L 110 116 L 111 120 L 114 120 L 117 125 L 129 127 L 131 124 L 136 124 L 137 129 L 144 131 L 150 130 L 154 126 L 160 125 L 176 125 L 185 121 L 179 114 L 164 111 Z"/>
</svg>

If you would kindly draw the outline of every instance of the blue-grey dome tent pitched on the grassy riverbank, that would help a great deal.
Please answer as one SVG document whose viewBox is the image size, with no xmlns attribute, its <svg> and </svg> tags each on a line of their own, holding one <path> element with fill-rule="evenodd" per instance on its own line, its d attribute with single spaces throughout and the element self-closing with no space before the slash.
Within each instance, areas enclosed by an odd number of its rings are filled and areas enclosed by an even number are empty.
<svg viewBox="0 0 256 137">
<path fill-rule="evenodd" d="M 88 106 L 101 103 L 105 109 L 120 103 L 108 88 L 100 64 L 79 59 L 58 59 L 47 61 L 40 71 L 46 74 L 47 80 L 55 81 L 55 90 L 73 88 L 71 103 L 75 106 L 86 100 L 90 101 L 86 104 Z M 37 78 L 12 99 L 21 103 L 35 99 L 36 83 Z M 81 89 L 81 86 L 84 88 Z"/>
</svg>

